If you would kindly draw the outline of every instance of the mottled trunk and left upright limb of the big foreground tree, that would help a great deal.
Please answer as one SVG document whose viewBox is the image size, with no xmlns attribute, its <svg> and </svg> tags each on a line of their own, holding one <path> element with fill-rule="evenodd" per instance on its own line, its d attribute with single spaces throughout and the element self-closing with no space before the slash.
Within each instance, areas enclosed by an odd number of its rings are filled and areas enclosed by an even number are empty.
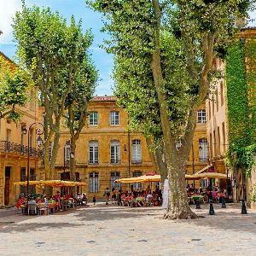
<svg viewBox="0 0 256 256">
<path fill-rule="evenodd" d="M 168 106 L 165 93 L 165 79 L 161 69 L 160 57 L 160 27 L 161 10 L 158 0 L 152 0 L 156 26 L 154 32 L 154 52 L 151 55 L 150 67 L 154 77 L 154 86 L 160 105 L 160 121 L 164 139 L 164 153 L 168 170 L 170 187 L 169 204 L 165 218 L 196 218 L 191 211 L 185 189 L 185 167 L 188 155 L 180 157 L 176 149 L 176 143 L 172 137 L 171 122 L 168 115 Z M 192 131 L 193 132 L 193 131 Z"/>
</svg>

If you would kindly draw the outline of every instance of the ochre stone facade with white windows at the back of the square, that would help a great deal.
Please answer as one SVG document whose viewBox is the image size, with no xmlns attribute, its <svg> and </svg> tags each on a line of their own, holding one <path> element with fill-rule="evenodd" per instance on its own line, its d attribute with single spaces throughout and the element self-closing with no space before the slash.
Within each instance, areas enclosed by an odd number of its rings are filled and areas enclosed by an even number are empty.
<svg viewBox="0 0 256 256">
<path fill-rule="evenodd" d="M 90 102 L 90 116 L 80 134 L 76 148 L 76 177 L 85 182 L 81 190 L 89 198 L 102 198 L 106 188 L 119 189 L 113 183 L 117 178 L 136 177 L 155 172 L 142 133 L 128 132 L 127 113 L 119 108 L 113 96 L 95 96 Z M 207 166 L 207 133 L 205 105 L 198 110 L 193 150 L 189 156 L 187 173 L 198 172 Z M 69 131 L 62 127 L 60 150 L 55 164 L 55 179 L 69 179 Z M 39 177 L 44 178 L 44 166 Z M 199 187 L 199 182 L 195 182 Z M 148 184 L 132 184 L 133 189 L 142 189 Z M 129 189 L 128 184 L 122 185 Z"/>
</svg>

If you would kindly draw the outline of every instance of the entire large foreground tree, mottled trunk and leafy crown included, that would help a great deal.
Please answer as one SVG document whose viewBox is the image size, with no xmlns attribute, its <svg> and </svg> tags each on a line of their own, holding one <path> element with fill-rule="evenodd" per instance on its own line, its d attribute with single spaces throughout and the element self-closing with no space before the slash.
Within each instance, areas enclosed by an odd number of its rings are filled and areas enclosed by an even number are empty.
<svg viewBox="0 0 256 256">
<path fill-rule="evenodd" d="M 162 135 L 171 191 L 166 218 L 195 218 L 184 187 L 196 111 L 211 91 L 214 58 L 225 54 L 236 20 L 254 1 L 87 2 L 107 20 L 119 102 L 145 133 Z"/>
</svg>

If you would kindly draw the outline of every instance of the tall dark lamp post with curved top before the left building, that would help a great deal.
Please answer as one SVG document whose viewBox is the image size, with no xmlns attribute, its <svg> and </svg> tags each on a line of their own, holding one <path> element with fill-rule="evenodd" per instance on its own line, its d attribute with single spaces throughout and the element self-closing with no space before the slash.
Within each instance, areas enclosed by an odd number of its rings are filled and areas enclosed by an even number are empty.
<svg viewBox="0 0 256 256">
<path fill-rule="evenodd" d="M 43 130 L 41 131 L 41 129 L 37 128 L 36 129 L 36 134 L 38 135 L 37 138 L 37 146 L 38 148 L 41 147 L 43 140 L 40 137 L 40 135 L 44 134 L 44 125 L 38 122 L 32 123 L 32 125 L 29 126 L 28 130 L 26 130 L 26 128 L 22 129 L 22 133 L 26 134 L 27 132 L 27 166 L 26 166 L 26 196 L 27 196 L 27 201 L 28 201 L 28 195 L 29 195 L 29 174 L 30 174 L 30 151 L 31 151 L 31 141 L 30 141 L 30 130 L 32 128 L 33 125 L 42 125 Z"/>
</svg>

